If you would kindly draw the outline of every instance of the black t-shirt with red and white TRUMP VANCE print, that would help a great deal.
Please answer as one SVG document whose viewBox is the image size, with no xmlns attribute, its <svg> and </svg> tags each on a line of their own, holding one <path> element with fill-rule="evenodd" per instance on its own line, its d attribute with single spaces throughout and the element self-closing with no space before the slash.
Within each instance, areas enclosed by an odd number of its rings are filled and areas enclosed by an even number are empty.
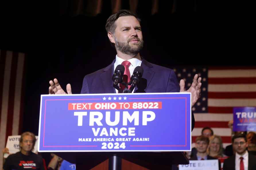
<svg viewBox="0 0 256 170">
<path fill-rule="evenodd" d="M 4 170 L 45 170 L 42 157 L 31 152 L 23 155 L 21 152 L 9 155 L 3 165 Z"/>
</svg>

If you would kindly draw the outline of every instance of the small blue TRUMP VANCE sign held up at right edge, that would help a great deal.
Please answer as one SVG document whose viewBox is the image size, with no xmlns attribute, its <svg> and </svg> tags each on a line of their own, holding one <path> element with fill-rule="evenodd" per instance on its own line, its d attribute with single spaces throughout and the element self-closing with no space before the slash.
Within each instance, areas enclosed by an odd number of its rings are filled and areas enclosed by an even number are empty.
<svg viewBox="0 0 256 170">
<path fill-rule="evenodd" d="M 234 107 L 233 131 L 256 131 L 256 108 Z"/>
</svg>

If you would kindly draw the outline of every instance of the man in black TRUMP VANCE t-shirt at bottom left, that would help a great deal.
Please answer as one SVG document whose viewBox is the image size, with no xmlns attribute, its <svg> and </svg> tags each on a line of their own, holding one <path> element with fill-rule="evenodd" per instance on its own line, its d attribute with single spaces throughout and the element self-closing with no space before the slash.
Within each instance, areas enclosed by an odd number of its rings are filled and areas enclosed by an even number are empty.
<svg viewBox="0 0 256 170">
<path fill-rule="evenodd" d="M 32 152 L 36 137 L 31 132 L 24 132 L 20 137 L 20 152 L 9 155 L 3 170 L 45 170 L 42 157 Z"/>
</svg>

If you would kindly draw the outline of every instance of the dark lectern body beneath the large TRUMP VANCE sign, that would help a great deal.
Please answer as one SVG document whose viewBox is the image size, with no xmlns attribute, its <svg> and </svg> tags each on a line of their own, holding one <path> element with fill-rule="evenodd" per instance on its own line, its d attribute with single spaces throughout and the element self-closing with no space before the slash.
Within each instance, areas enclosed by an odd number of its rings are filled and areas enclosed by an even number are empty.
<svg viewBox="0 0 256 170">
<path fill-rule="evenodd" d="M 144 167 L 145 169 L 152 170 L 170 170 L 172 164 L 189 164 L 189 160 L 183 154 L 183 152 L 118 152 L 118 153 L 55 153 L 58 156 L 62 157 L 66 161 L 70 163 L 76 163 L 77 170 L 113 170 L 111 165 L 115 164 L 111 161 L 116 159 L 118 162 L 121 162 L 121 169 L 128 170 L 133 166 L 133 170 L 141 169 Z M 113 157 L 117 158 L 113 158 Z M 122 159 L 120 161 L 120 159 Z M 115 161 L 115 160 L 114 160 Z M 132 164 L 137 165 L 132 165 Z M 97 165 L 102 164 L 100 167 L 96 167 Z M 138 166 L 139 165 L 139 166 Z M 125 166 L 125 167 L 124 167 Z M 141 167 L 140 167 L 141 166 Z M 120 169 L 120 165 L 116 170 Z"/>
</svg>

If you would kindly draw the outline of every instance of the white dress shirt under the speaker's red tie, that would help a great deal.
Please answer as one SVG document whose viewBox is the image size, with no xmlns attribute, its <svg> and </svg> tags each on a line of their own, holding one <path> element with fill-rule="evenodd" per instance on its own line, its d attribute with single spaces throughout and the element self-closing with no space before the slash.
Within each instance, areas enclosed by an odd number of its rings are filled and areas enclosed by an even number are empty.
<svg viewBox="0 0 256 170">
<path fill-rule="evenodd" d="M 116 55 L 116 61 L 115 61 L 115 64 L 114 64 L 114 72 L 115 72 L 116 67 L 119 64 L 122 64 L 123 61 L 125 61 L 125 60 Z M 141 66 L 141 58 L 140 57 L 133 57 L 133 58 L 129 59 L 128 61 L 131 63 L 131 65 L 129 66 L 129 71 L 130 71 L 130 75 L 132 75 L 135 67 Z M 117 89 L 116 89 L 116 92 L 118 93 Z M 133 89 L 132 92 L 134 92 L 134 89 Z"/>
</svg>

